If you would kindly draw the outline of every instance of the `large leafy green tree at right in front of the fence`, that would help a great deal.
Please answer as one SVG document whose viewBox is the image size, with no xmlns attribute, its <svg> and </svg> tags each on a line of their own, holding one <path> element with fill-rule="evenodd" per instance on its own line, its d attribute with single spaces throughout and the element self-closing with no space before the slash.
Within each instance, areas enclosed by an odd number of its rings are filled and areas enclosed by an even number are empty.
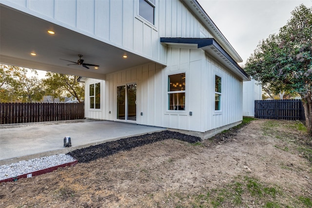
<svg viewBox="0 0 312 208">
<path fill-rule="evenodd" d="M 259 43 L 245 71 L 275 94 L 298 93 L 312 132 L 312 9 L 303 4 L 296 7 L 278 34 Z"/>
</svg>

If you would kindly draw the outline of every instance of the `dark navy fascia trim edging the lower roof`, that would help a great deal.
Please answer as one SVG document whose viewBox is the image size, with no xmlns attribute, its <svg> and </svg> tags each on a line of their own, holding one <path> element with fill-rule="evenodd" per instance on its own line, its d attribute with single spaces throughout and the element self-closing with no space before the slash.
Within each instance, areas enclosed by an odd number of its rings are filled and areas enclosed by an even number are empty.
<svg viewBox="0 0 312 208">
<path fill-rule="evenodd" d="M 160 38 L 162 43 L 197 44 L 197 48 L 214 45 L 215 48 L 226 57 L 248 79 L 250 76 L 236 63 L 236 61 L 215 41 L 214 38 Z"/>
</svg>

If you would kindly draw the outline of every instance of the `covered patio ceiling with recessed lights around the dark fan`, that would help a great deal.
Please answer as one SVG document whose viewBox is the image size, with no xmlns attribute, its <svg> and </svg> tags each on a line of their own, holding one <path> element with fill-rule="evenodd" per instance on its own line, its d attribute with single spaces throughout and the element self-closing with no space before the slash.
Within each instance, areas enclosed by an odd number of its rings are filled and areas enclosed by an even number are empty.
<svg viewBox="0 0 312 208">
<path fill-rule="evenodd" d="M 55 31 L 54 35 L 47 30 Z M 37 56 L 30 53 L 35 52 Z M 84 63 L 70 65 L 83 55 Z M 123 58 L 123 55 L 127 58 Z M 0 4 L 0 63 L 69 75 L 105 79 L 105 75 L 149 62 L 94 38 Z"/>
</svg>

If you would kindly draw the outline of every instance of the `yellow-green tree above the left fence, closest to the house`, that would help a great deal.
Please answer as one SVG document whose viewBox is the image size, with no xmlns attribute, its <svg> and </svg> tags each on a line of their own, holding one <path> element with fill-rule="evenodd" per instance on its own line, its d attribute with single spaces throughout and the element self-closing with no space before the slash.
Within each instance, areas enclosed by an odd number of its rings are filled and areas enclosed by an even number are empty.
<svg viewBox="0 0 312 208">
<path fill-rule="evenodd" d="M 78 102 L 82 102 L 84 97 L 84 84 L 77 81 L 78 76 L 63 75 L 59 73 L 46 73 L 46 79 L 43 80 L 46 95 L 52 95 L 54 98 L 62 96 L 76 97 Z"/>
</svg>

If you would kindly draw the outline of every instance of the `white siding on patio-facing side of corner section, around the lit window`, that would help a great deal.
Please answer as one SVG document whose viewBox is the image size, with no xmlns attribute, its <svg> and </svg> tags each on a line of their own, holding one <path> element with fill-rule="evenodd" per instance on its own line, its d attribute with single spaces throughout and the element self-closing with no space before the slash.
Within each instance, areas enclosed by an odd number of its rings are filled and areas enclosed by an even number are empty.
<svg viewBox="0 0 312 208">
<path fill-rule="evenodd" d="M 202 59 L 204 51 L 198 49 L 170 47 L 167 51 L 168 65 L 165 68 L 163 95 L 165 106 L 164 127 L 172 129 L 201 131 L 201 104 L 203 101 L 201 84 Z M 185 73 L 185 111 L 168 110 L 168 76 Z M 190 112 L 193 113 L 190 116 Z"/>
</svg>

